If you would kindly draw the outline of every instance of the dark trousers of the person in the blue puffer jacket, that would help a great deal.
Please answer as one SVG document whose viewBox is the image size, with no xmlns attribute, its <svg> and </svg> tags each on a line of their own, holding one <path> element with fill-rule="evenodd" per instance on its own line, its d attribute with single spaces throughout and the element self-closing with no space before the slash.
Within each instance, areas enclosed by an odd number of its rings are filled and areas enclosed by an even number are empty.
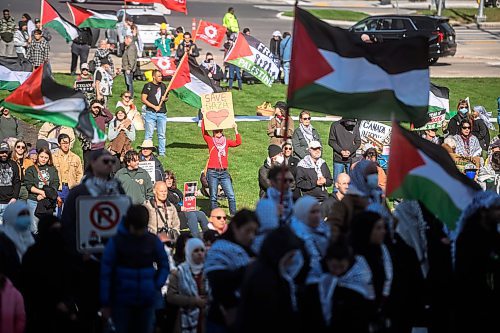
<svg viewBox="0 0 500 333">
<path fill-rule="evenodd" d="M 112 309 L 116 333 L 152 333 L 154 328 L 154 306 L 120 306 Z"/>
</svg>

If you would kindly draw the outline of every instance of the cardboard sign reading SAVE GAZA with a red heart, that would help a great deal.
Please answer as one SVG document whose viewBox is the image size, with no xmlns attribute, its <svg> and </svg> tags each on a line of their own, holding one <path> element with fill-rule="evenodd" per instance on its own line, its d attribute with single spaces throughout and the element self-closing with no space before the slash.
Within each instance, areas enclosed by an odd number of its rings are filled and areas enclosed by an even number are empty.
<svg viewBox="0 0 500 333">
<path fill-rule="evenodd" d="M 233 127 L 234 108 L 231 92 L 202 95 L 201 105 L 207 131 Z"/>
</svg>

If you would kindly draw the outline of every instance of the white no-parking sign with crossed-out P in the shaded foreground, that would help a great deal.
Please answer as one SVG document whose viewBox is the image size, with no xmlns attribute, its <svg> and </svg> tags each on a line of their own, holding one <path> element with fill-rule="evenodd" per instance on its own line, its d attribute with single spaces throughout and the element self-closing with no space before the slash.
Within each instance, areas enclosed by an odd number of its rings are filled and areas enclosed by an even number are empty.
<svg viewBox="0 0 500 333">
<path fill-rule="evenodd" d="M 102 253 L 131 205 L 123 196 L 81 196 L 76 199 L 76 249 L 80 253 Z"/>
</svg>

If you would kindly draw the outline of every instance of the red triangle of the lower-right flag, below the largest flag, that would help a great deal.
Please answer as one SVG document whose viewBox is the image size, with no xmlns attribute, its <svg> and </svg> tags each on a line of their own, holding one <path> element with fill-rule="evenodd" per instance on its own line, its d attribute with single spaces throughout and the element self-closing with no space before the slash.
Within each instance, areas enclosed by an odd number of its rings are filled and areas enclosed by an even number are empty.
<svg viewBox="0 0 500 333">
<path fill-rule="evenodd" d="M 425 165 L 425 161 L 418 153 L 418 148 L 404 137 L 396 122 L 392 123 L 391 154 L 389 156 L 387 196 L 390 196 L 401 186 L 404 178 L 411 170 Z"/>
</svg>

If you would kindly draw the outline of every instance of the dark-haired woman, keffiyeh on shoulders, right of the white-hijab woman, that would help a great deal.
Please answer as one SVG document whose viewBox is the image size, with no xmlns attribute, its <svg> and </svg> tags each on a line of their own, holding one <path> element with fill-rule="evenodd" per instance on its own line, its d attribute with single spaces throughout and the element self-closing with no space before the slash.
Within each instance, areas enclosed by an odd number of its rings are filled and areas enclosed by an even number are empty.
<svg viewBox="0 0 500 333">
<path fill-rule="evenodd" d="M 236 320 L 240 288 L 253 255 L 250 247 L 259 228 L 258 218 L 243 209 L 234 215 L 229 229 L 207 253 L 205 274 L 213 301 L 207 317 L 207 333 L 228 332 Z"/>
</svg>

